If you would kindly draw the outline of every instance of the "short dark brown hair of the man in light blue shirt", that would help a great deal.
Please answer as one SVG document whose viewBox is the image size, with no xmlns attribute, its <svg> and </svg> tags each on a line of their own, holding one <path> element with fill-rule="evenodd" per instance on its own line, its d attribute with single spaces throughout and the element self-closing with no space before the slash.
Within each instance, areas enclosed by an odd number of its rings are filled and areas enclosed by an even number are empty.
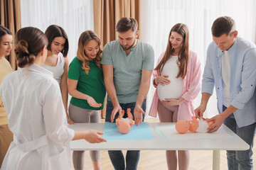
<svg viewBox="0 0 256 170">
<path fill-rule="evenodd" d="M 235 21 L 230 16 L 221 16 L 213 22 L 211 30 L 212 35 L 217 38 L 223 34 L 229 35 L 235 30 Z"/>
</svg>

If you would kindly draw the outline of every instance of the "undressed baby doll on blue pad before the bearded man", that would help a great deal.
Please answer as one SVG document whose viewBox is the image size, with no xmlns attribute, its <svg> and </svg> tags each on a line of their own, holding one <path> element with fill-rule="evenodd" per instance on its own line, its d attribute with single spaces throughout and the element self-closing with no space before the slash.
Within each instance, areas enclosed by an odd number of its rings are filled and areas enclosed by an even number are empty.
<svg viewBox="0 0 256 170">
<path fill-rule="evenodd" d="M 119 129 L 119 132 L 121 132 L 122 134 L 127 134 L 131 130 L 132 126 L 134 125 L 131 109 L 127 108 L 128 118 L 122 118 L 123 116 L 124 116 L 124 110 L 122 110 L 122 115 L 118 115 L 118 118 L 116 119 L 117 128 Z"/>
</svg>

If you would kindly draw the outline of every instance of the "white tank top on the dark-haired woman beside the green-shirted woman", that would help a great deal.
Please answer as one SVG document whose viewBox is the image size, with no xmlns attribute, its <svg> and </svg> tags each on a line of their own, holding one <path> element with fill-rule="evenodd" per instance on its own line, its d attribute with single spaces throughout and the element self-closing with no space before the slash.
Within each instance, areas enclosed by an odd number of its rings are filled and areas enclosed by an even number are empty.
<svg viewBox="0 0 256 170">
<path fill-rule="evenodd" d="M 51 67 L 46 64 L 43 64 L 43 68 L 48 69 L 50 72 L 53 72 L 53 78 L 58 81 L 58 84 L 60 84 L 60 79 L 64 72 L 64 57 L 61 52 L 58 53 L 58 61 L 56 66 Z"/>
</svg>

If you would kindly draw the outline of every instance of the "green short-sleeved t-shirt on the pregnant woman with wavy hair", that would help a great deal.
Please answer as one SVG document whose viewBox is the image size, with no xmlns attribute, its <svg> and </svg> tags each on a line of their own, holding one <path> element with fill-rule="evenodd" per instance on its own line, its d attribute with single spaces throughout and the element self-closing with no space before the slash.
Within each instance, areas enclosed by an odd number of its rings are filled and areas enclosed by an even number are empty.
<svg viewBox="0 0 256 170">
<path fill-rule="evenodd" d="M 100 108 L 93 108 L 87 103 L 87 100 L 72 97 L 70 103 L 80 108 L 90 110 L 101 110 L 104 106 L 104 99 L 106 95 L 106 89 L 104 84 L 104 77 L 102 69 L 90 61 L 90 71 L 88 74 L 81 67 L 82 62 L 75 57 L 70 63 L 68 70 L 68 79 L 78 80 L 77 90 L 83 94 L 87 94 L 95 99 L 97 103 L 102 103 Z"/>
</svg>

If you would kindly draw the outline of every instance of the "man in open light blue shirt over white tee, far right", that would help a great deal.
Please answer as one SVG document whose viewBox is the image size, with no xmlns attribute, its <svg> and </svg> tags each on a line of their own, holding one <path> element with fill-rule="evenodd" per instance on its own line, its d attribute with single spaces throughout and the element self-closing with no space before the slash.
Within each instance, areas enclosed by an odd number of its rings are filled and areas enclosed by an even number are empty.
<svg viewBox="0 0 256 170">
<path fill-rule="evenodd" d="M 224 123 L 245 140 L 250 149 L 227 151 L 228 169 L 252 169 L 252 145 L 256 127 L 256 46 L 238 37 L 233 18 L 217 18 L 211 28 L 213 42 L 207 51 L 203 72 L 201 105 L 196 108 L 203 117 L 215 86 L 218 112 L 208 132 L 215 132 Z"/>
</svg>

